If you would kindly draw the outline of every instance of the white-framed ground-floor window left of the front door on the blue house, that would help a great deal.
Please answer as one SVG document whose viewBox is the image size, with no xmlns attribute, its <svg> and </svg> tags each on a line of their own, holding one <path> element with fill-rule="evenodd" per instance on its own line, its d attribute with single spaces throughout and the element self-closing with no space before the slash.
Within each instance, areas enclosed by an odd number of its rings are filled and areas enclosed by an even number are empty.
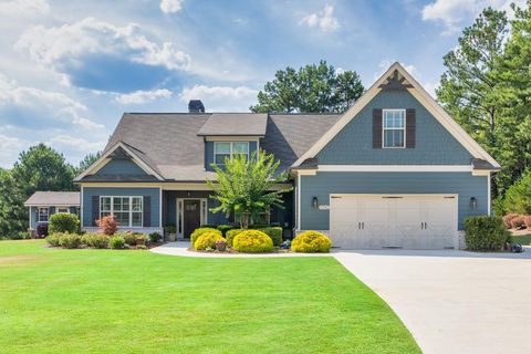
<svg viewBox="0 0 531 354">
<path fill-rule="evenodd" d="M 101 197 L 100 218 L 114 215 L 119 226 L 143 226 L 143 197 Z"/>
</svg>

